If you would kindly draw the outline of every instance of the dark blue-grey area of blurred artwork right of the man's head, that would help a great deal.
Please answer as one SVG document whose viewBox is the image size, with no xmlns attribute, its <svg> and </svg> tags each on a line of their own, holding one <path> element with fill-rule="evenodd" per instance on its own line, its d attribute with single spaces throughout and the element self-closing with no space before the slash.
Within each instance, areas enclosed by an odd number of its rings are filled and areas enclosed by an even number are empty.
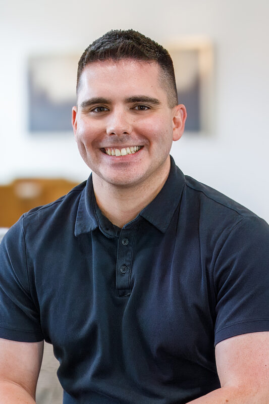
<svg viewBox="0 0 269 404">
<path fill-rule="evenodd" d="M 200 82 L 197 78 L 186 91 L 178 93 L 179 104 L 184 104 L 187 109 L 185 130 L 199 132 L 201 130 L 200 118 Z"/>
</svg>

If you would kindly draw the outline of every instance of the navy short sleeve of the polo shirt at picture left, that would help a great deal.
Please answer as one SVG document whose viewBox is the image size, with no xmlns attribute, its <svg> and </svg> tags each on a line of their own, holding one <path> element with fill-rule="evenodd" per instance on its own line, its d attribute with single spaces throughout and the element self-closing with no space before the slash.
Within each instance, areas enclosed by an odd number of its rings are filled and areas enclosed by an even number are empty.
<svg viewBox="0 0 269 404">
<path fill-rule="evenodd" d="M 31 296 L 23 217 L 0 244 L 0 338 L 43 340 L 38 305 Z"/>
</svg>

